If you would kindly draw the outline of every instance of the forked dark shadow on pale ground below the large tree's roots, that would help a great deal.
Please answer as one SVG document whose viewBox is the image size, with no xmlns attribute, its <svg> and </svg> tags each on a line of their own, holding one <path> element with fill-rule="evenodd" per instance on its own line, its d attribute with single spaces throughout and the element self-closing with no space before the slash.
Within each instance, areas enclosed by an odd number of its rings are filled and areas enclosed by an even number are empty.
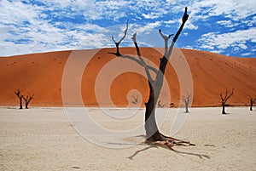
<svg viewBox="0 0 256 171">
<path fill-rule="evenodd" d="M 129 158 L 130 160 L 133 160 L 134 157 L 136 157 L 139 153 L 141 153 L 143 151 L 147 151 L 150 148 L 158 148 L 159 149 L 159 147 L 161 147 L 161 148 L 164 148 L 164 149 L 167 149 L 167 150 L 170 150 L 170 151 L 174 151 L 178 154 L 195 156 L 195 157 L 199 157 L 201 159 L 204 158 L 204 157 L 207 158 L 207 159 L 210 159 L 210 157 L 208 155 L 205 155 L 205 154 L 186 152 L 186 151 L 177 151 L 177 150 L 173 149 L 172 146 L 167 145 L 166 143 L 163 143 L 163 144 L 161 144 L 161 143 L 143 143 L 141 145 L 148 145 L 148 146 L 143 148 L 142 150 L 135 151 L 130 157 L 127 157 L 127 158 Z"/>
</svg>

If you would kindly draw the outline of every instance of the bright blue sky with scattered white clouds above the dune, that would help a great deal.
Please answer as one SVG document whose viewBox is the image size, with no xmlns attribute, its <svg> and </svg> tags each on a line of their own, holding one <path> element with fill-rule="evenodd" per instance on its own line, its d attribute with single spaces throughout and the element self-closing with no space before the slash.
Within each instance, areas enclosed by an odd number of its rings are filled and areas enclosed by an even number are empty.
<svg viewBox="0 0 256 171">
<path fill-rule="evenodd" d="M 178 48 L 256 57 L 253 0 L 0 0 L 0 56 L 114 47 L 111 36 L 122 36 L 126 20 L 121 47 L 132 46 L 135 31 L 141 47 L 163 47 L 158 30 L 175 33 L 185 7 L 189 20 Z"/>
</svg>

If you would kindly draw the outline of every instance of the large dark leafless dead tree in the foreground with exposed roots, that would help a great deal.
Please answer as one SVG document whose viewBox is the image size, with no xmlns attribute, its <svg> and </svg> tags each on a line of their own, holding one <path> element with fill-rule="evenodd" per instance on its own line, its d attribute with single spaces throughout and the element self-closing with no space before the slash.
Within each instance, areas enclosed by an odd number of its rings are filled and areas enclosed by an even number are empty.
<svg viewBox="0 0 256 171">
<path fill-rule="evenodd" d="M 128 58 L 136 61 L 139 65 L 144 67 L 144 70 L 148 77 L 149 96 L 148 96 L 148 101 L 145 103 L 146 111 L 145 111 L 145 119 L 144 119 L 145 120 L 144 128 L 146 130 L 146 141 L 148 143 L 160 141 L 163 143 L 163 145 L 167 145 L 170 148 L 172 147 L 172 145 L 192 145 L 189 142 L 173 139 L 172 137 L 167 137 L 166 135 L 161 134 L 155 121 L 155 108 L 157 105 L 158 98 L 160 96 L 160 90 L 163 85 L 166 65 L 172 54 L 172 49 L 174 47 L 174 44 L 176 43 L 177 38 L 180 35 L 181 31 L 183 30 L 183 26 L 185 25 L 188 19 L 189 19 L 189 14 L 187 14 L 187 8 L 185 8 L 185 11 L 183 13 L 183 18 L 182 18 L 182 24 L 179 27 L 176 35 L 173 37 L 172 43 L 169 48 L 168 48 L 168 41 L 170 37 L 172 37 L 172 34 L 169 36 L 164 36 L 162 34 L 162 31 L 159 30 L 160 36 L 165 41 L 165 54 L 163 55 L 162 58 L 160 58 L 160 66 L 158 69 L 155 69 L 152 66 L 148 66 L 143 60 L 140 52 L 140 48 L 138 47 L 138 44 L 137 44 L 137 39 L 136 39 L 137 33 L 134 33 L 133 37 L 131 37 L 131 40 L 133 41 L 134 46 L 137 50 L 138 59 L 128 55 L 121 55 L 119 54 L 119 50 L 117 50 L 117 53 L 115 54 L 117 57 Z M 128 28 L 128 23 L 126 23 L 125 35 L 126 35 L 127 28 Z M 124 37 L 122 37 L 122 39 Z M 156 74 L 154 78 L 151 76 L 150 71 L 153 71 Z"/>
</svg>

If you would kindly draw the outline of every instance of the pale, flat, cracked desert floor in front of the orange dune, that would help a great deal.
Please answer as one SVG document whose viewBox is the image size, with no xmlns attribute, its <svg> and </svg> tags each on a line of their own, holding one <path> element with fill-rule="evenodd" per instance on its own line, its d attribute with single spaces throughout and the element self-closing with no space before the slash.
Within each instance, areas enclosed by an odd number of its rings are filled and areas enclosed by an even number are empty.
<svg viewBox="0 0 256 171">
<path fill-rule="evenodd" d="M 195 143 L 175 151 L 143 144 L 144 109 L 86 109 L 96 124 L 73 117 L 79 110 L 0 107 L 0 170 L 256 170 L 256 111 L 247 107 L 170 109 L 164 119 L 158 110 L 164 134 L 177 118 L 174 137 Z"/>
</svg>

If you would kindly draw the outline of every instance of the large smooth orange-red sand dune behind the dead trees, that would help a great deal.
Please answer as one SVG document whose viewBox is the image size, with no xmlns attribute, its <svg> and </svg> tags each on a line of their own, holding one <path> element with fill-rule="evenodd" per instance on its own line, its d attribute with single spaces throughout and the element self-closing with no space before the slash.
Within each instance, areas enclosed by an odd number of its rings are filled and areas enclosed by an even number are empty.
<svg viewBox="0 0 256 171">
<path fill-rule="evenodd" d="M 61 92 L 68 94 L 64 98 L 66 105 L 110 106 L 113 103 L 117 106 L 143 106 L 148 98 L 148 82 L 141 75 L 143 67 L 138 67 L 131 60 L 117 59 L 110 54 L 113 52 L 115 48 L 1 57 L 0 105 L 19 105 L 15 95 L 15 90 L 19 88 L 21 94 L 35 94 L 31 106 L 62 106 Z M 121 48 L 120 52 L 136 54 L 134 48 Z M 142 48 L 142 54 L 156 66 L 159 65 L 162 55 L 155 48 Z M 250 98 L 256 97 L 255 58 L 227 57 L 176 48 L 171 57 L 172 65 L 166 67 L 166 85 L 169 88 L 163 88 L 160 105 L 174 103 L 178 106 L 180 96 L 186 95 L 180 93 L 181 76 L 177 77 L 177 68 L 183 71 L 183 65 L 177 66 L 183 55 L 194 86 L 193 92 L 188 89 L 184 92 L 193 93 L 193 106 L 218 106 L 220 92 L 224 94 L 232 88 L 234 95 L 228 100 L 229 105 L 249 105 Z M 65 71 L 72 72 L 65 75 Z M 63 77 L 65 84 L 61 84 Z M 181 80 L 187 83 L 185 77 L 186 73 Z M 77 86 L 72 87 L 75 83 Z M 113 102 L 108 100 L 108 95 Z"/>
</svg>

